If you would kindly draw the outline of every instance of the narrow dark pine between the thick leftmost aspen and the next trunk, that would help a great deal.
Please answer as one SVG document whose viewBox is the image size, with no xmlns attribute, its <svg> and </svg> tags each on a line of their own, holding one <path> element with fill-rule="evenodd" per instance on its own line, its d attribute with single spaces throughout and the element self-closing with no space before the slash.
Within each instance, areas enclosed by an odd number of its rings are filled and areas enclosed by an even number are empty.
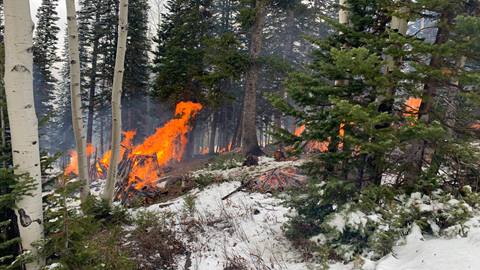
<svg viewBox="0 0 480 270">
<path fill-rule="evenodd" d="M 59 17 L 56 8 L 58 0 L 43 0 L 37 11 L 38 23 L 34 36 L 33 47 L 33 79 L 35 86 L 35 108 L 41 122 L 46 122 L 53 116 L 52 100 L 55 83 L 53 71 L 58 62 L 57 43 L 60 28 L 57 26 Z M 44 124 L 41 128 L 42 147 L 51 145 L 47 133 L 50 128 Z"/>
</svg>

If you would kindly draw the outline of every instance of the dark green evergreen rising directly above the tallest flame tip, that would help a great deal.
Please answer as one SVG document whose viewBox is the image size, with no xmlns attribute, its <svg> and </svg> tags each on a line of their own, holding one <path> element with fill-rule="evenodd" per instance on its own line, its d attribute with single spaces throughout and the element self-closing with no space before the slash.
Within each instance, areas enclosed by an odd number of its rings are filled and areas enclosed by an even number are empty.
<svg viewBox="0 0 480 270">
<path fill-rule="evenodd" d="M 170 0 L 158 28 L 152 94 L 163 100 L 204 100 L 205 38 L 210 30 L 210 1 Z"/>
</svg>

